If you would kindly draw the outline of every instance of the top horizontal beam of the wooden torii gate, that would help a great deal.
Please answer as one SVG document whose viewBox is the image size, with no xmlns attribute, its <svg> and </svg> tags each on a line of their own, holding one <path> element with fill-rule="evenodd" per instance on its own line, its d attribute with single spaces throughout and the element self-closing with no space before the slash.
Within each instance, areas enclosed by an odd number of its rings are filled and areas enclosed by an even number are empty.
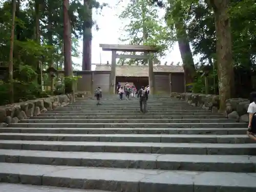
<svg viewBox="0 0 256 192">
<path fill-rule="evenodd" d="M 114 44 L 100 44 L 99 47 L 102 48 L 102 51 L 130 51 L 130 52 L 144 52 L 144 51 L 151 51 L 151 52 L 158 52 L 158 48 L 154 46 L 143 46 L 143 45 L 114 45 Z"/>
</svg>

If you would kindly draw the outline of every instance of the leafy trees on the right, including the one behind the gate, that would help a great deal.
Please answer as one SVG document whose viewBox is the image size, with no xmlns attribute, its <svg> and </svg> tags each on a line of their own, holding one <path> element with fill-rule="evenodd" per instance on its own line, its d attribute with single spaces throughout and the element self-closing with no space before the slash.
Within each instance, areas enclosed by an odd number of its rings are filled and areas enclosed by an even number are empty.
<svg viewBox="0 0 256 192">
<path fill-rule="evenodd" d="M 160 25 L 158 30 L 162 32 L 156 35 L 148 30 L 158 39 L 151 41 L 151 45 L 163 42 L 166 50 L 177 42 L 187 91 L 219 94 L 223 108 L 226 99 L 247 97 L 255 87 L 255 3 L 246 0 L 137 0 L 128 4 L 121 17 L 130 19 L 130 24 L 124 28 L 130 42 L 136 39 L 136 43 L 141 44 L 142 35 L 137 38 L 137 31 L 143 26 L 143 14 L 138 9 L 144 5 L 148 10 L 155 11 L 156 7 L 164 10 L 164 18 L 147 10 L 147 14 L 154 15 L 154 27 Z M 145 22 L 146 28 L 152 29 L 152 24 Z M 194 61 L 196 57 L 199 62 Z M 204 78 L 209 81 L 207 88 Z"/>
</svg>

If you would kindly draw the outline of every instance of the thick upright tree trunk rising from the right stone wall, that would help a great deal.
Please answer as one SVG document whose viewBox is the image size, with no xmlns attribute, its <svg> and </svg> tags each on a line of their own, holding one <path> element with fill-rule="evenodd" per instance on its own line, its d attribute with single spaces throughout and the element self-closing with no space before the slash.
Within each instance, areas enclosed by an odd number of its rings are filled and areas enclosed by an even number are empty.
<svg viewBox="0 0 256 192">
<path fill-rule="evenodd" d="M 226 100 L 234 96 L 234 71 L 231 49 L 231 28 L 228 15 L 229 0 L 211 0 L 214 8 L 217 36 L 217 65 L 219 79 L 220 110 L 225 111 Z"/>
</svg>

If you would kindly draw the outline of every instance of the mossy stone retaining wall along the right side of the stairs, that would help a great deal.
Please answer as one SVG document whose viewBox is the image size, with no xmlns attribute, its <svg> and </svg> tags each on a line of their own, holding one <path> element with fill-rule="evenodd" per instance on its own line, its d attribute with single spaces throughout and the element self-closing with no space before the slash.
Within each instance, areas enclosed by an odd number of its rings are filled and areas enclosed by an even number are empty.
<svg viewBox="0 0 256 192">
<path fill-rule="evenodd" d="M 197 93 L 172 93 L 171 97 L 186 100 L 189 104 L 200 106 L 203 109 L 211 110 L 212 113 L 219 112 L 219 96 Z M 225 115 L 229 119 L 237 119 L 239 122 L 248 122 L 247 109 L 250 104 L 248 99 L 234 98 L 226 100 Z"/>
</svg>

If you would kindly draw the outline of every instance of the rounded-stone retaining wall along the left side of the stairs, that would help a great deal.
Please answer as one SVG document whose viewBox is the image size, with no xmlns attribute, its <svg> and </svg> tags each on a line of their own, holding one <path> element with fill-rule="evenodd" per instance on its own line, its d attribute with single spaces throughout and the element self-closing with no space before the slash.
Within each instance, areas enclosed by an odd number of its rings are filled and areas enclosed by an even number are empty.
<svg viewBox="0 0 256 192">
<path fill-rule="evenodd" d="M 75 94 L 76 98 L 83 96 L 83 92 Z M 72 102 L 74 102 L 74 96 L 67 94 L 0 106 L 0 127 L 6 127 L 9 123 L 17 123 L 19 120 L 55 110 Z"/>
</svg>

